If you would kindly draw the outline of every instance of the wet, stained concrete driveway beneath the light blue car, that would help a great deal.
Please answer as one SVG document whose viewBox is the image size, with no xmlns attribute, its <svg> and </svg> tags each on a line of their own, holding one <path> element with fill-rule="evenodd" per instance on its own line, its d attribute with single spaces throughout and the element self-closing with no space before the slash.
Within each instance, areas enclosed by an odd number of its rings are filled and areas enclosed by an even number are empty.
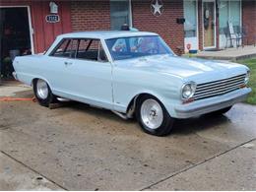
<svg viewBox="0 0 256 192">
<path fill-rule="evenodd" d="M 32 97 L 21 87 L 0 97 Z M 1 190 L 256 190 L 256 107 L 177 121 L 160 138 L 83 103 L 0 101 L 0 150 Z"/>
</svg>

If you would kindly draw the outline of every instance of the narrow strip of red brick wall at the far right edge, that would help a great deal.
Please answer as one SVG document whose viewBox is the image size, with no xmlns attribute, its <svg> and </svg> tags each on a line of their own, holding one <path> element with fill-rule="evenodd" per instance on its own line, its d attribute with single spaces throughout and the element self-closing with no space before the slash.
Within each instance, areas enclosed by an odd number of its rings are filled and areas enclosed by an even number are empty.
<svg viewBox="0 0 256 192">
<path fill-rule="evenodd" d="M 256 1 L 243 0 L 242 24 L 247 32 L 248 44 L 253 44 L 256 38 Z"/>
</svg>

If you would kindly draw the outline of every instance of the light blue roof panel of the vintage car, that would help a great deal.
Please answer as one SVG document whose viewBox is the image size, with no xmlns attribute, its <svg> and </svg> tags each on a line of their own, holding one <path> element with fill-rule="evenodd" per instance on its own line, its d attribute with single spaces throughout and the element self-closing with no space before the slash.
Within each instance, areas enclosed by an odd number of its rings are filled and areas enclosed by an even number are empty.
<svg viewBox="0 0 256 192">
<path fill-rule="evenodd" d="M 61 38 L 116 38 L 126 36 L 159 35 L 155 32 L 132 32 L 132 31 L 96 31 L 96 32 L 70 32 L 60 34 Z"/>
</svg>

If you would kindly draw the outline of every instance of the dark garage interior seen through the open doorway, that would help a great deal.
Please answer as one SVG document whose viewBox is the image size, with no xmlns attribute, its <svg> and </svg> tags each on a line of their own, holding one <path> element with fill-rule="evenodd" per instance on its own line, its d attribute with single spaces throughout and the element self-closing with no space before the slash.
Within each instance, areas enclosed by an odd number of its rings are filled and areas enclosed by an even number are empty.
<svg viewBox="0 0 256 192">
<path fill-rule="evenodd" d="M 32 54 L 27 7 L 0 8 L 0 44 L 0 76 L 11 80 L 15 56 Z"/>
</svg>

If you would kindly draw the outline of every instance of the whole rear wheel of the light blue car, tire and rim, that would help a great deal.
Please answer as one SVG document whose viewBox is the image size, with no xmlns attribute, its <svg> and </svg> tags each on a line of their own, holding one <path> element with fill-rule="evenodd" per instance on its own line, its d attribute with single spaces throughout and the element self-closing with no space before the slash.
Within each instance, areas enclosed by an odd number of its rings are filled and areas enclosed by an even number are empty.
<svg viewBox="0 0 256 192">
<path fill-rule="evenodd" d="M 40 105 L 49 106 L 51 102 L 56 101 L 56 96 L 52 94 L 49 85 L 44 80 L 34 80 L 32 87 L 34 96 Z"/>
</svg>

